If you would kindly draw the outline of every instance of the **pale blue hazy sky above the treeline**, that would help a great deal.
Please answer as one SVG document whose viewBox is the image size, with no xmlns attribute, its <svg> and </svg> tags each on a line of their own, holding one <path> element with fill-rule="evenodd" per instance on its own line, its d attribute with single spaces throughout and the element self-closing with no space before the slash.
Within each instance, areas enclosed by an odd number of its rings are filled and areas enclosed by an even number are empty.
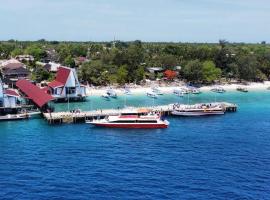
<svg viewBox="0 0 270 200">
<path fill-rule="evenodd" d="M 0 0 L 0 40 L 270 41 L 270 0 Z"/>
</svg>

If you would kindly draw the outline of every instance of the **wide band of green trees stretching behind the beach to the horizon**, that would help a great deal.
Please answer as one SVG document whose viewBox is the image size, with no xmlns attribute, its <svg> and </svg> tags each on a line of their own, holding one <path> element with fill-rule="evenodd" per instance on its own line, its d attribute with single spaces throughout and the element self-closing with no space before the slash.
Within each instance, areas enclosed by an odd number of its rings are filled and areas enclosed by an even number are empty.
<svg viewBox="0 0 270 200">
<path fill-rule="evenodd" d="M 162 67 L 177 78 L 192 83 L 211 84 L 221 78 L 238 81 L 263 81 L 270 78 L 270 46 L 228 43 L 143 43 L 134 42 L 58 42 L 39 40 L 0 42 L 0 59 L 30 54 L 36 61 L 52 60 L 78 69 L 82 81 L 94 85 L 135 82 L 145 78 L 163 78 L 161 72 L 150 73 L 149 67 Z M 80 62 L 78 57 L 87 58 Z M 53 75 L 28 63 L 35 80 Z M 176 68 L 176 66 L 179 66 Z M 174 78 L 175 76 L 173 76 Z M 169 78 L 170 79 L 170 78 Z"/>
</svg>

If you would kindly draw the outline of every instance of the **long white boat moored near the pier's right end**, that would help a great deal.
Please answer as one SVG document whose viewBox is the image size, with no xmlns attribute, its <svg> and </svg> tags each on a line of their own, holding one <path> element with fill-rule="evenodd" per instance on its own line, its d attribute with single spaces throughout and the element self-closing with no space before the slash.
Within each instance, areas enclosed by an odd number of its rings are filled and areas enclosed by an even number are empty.
<svg viewBox="0 0 270 200">
<path fill-rule="evenodd" d="M 221 105 L 195 104 L 195 105 L 174 105 L 172 115 L 178 116 L 206 116 L 223 115 L 225 109 Z"/>
</svg>

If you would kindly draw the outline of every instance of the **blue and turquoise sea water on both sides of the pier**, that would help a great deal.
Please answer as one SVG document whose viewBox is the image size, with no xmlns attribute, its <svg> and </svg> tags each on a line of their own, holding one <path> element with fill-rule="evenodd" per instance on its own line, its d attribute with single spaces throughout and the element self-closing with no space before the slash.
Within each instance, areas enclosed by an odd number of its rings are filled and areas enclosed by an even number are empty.
<svg viewBox="0 0 270 200">
<path fill-rule="evenodd" d="M 165 130 L 1 122 L 0 199 L 270 199 L 270 92 L 206 93 L 190 103 L 215 99 L 238 112 L 168 117 Z M 188 99 L 90 97 L 70 109 L 173 102 Z"/>
</svg>

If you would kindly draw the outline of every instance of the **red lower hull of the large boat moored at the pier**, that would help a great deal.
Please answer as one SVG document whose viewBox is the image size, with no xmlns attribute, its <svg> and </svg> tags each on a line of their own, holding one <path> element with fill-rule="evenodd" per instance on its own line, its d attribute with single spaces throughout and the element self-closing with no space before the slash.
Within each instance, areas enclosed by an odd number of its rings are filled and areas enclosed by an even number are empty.
<svg viewBox="0 0 270 200">
<path fill-rule="evenodd" d="M 140 123 L 140 124 L 133 124 L 133 123 L 96 123 L 96 122 L 89 122 L 97 127 L 104 127 L 104 128 L 127 128 L 127 129 L 162 129 L 168 128 L 168 124 L 147 124 L 147 123 Z"/>
</svg>

